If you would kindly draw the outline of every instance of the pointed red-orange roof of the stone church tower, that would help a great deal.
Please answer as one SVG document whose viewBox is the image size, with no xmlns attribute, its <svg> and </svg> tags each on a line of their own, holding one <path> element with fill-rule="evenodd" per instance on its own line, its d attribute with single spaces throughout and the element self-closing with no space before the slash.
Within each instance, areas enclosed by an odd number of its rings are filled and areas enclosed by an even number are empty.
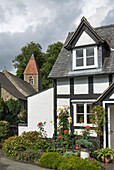
<svg viewBox="0 0 114 170">
<path fill-rule="evenodd" d="M 36 63 L 36 60 L 34 58 L 34 54 L 32 54 L 26 69 L 24 71 L 24 74 L 38 74 L 40 72 L 40 69 L 38 67 L 38 64 Z"/>
</svg>

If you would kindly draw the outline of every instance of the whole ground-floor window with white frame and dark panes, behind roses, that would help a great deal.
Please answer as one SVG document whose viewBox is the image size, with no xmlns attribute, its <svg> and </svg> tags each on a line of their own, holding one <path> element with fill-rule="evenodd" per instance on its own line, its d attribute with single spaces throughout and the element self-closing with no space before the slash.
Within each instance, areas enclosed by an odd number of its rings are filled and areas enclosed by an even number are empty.
<svg viewBox="0 0 114 170">
<path fill-rule="evenodd" d="M 85 125 L 91 124 L 90 122 L 90 103 L 77 103 L 74 104 L 74 125 L 84 123 Z"/>
</svg>

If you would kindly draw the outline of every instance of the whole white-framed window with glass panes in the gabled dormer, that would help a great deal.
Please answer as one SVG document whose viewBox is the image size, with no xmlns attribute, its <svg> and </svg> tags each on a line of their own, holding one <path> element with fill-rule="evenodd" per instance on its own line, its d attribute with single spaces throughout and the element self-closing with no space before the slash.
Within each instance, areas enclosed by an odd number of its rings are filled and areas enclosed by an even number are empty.
<svg viewBox="0 0 114 170">
<path fill-rule="evenodd" d="M 97 66 L 97 46 L 73 50 L 73 70 L 95 68 Z"/>
</svg>

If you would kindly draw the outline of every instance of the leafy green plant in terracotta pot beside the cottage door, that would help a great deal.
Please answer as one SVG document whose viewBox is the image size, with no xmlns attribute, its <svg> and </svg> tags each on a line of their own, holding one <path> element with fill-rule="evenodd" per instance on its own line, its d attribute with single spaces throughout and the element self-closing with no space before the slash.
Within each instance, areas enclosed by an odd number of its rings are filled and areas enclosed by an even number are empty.
<svg viewBox="0 0 114 170">
<path fill-rule="evenodd" d="M 109 163 L 110 157 L 114 156 L 114 150 L 110 148 L 102 148 L 94 152 L 98 154 L 98 157 L 101 157 L 104 163 Z"/>
</svg>

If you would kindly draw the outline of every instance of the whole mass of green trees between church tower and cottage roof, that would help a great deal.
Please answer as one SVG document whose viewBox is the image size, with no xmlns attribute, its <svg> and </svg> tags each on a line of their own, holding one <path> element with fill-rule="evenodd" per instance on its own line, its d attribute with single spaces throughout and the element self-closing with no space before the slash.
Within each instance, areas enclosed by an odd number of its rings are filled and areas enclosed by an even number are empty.
<svg viewBox="0 0 114 170">
<path fill-rule="evenodd" d="M 52 82 L 47 79 L 57 56 L 60 53 L 63 44 L 57 42 L 48 46 L 46 53 L 42 52 L 42 47 L 39 43 L 31 42 L 21 49 L 21 54 L 17 55 L 13 60 L 13 65 L 17 69 L 16 75 L 23 79 L 23 72 L 28 64 L 32 54 L 34 54 L 36 62 L 42 73 L 42 87 L 47 88 L 52 86 Z"/>
</svg>

